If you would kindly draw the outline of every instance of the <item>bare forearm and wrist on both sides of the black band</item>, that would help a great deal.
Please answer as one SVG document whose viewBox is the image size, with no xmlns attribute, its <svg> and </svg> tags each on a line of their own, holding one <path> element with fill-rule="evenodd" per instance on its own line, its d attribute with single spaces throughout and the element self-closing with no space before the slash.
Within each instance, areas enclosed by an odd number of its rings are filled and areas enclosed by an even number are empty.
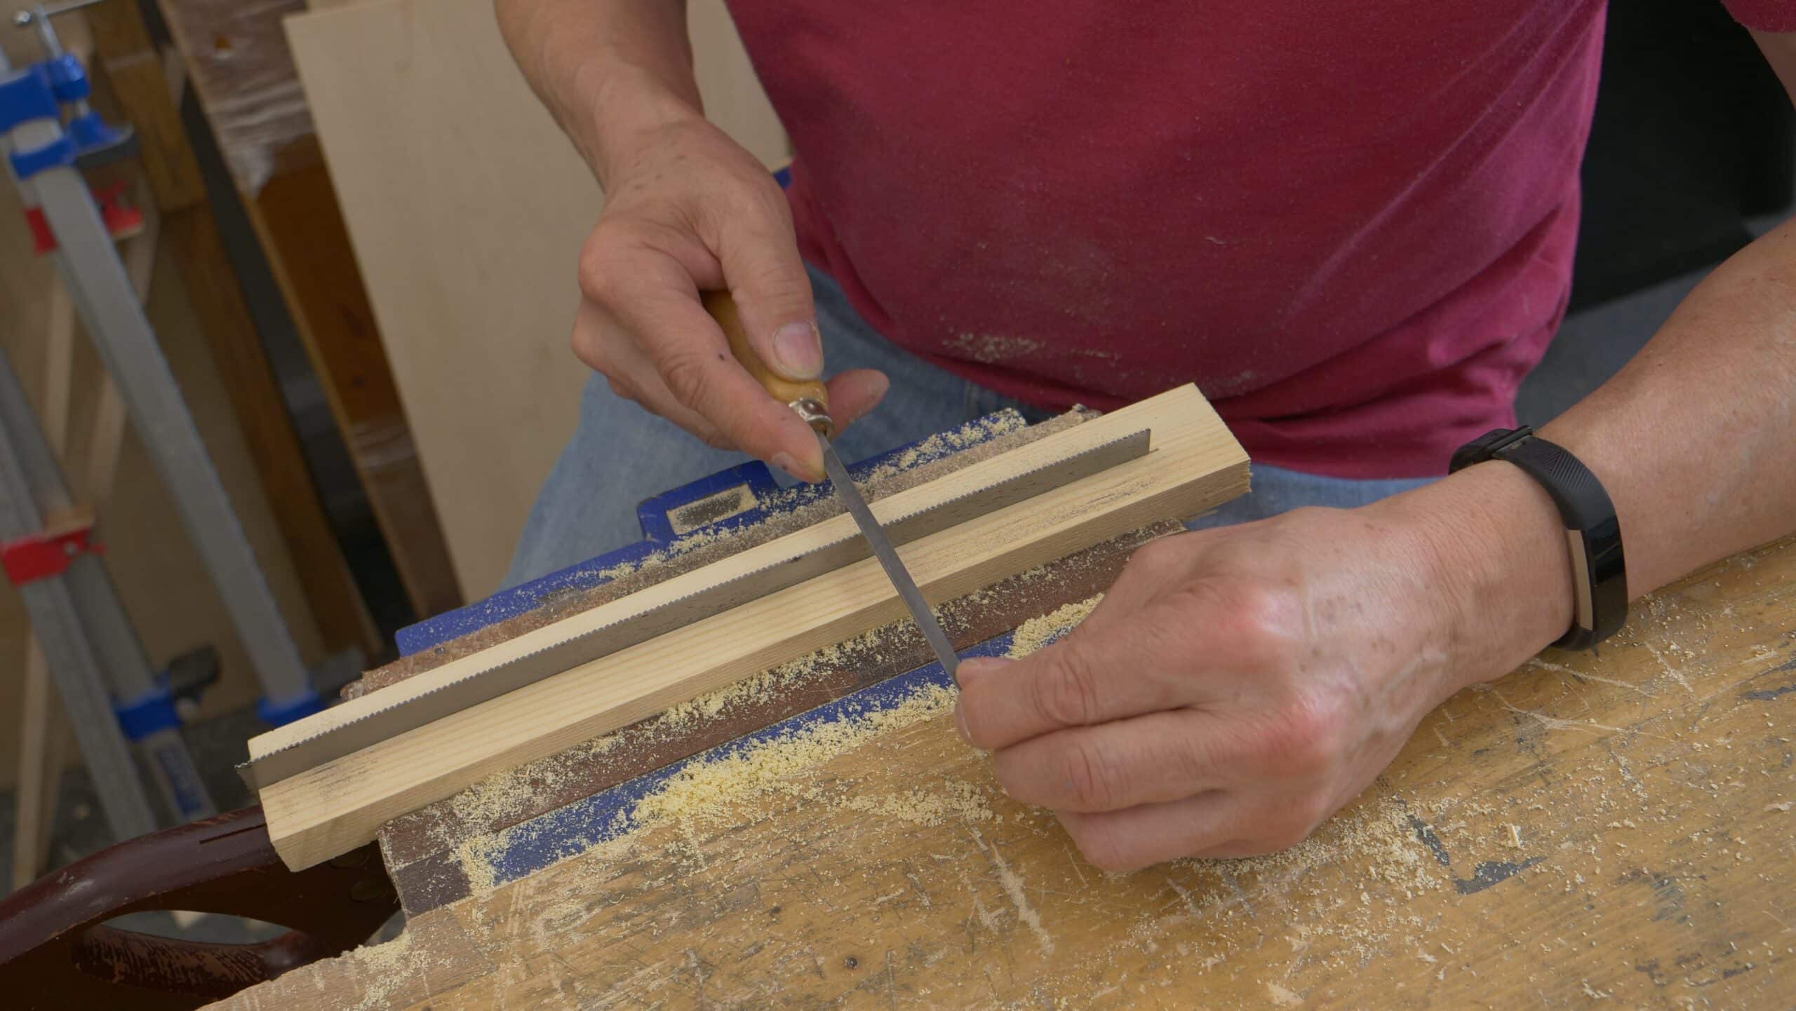
<svg viewBox="0 0 1796 1011">
<path fill-rule="evenodd" d="M 1615 501 L 1629 596 L 1796 530 L 1796 223 L 1715 269 L 1600 390 L 1541 429 Z M 1421 548 L 1448 688 L 1500 677 L 1572 625 L 1559 510 L 1480 463 L 1369 517 Z"/>
</svg>

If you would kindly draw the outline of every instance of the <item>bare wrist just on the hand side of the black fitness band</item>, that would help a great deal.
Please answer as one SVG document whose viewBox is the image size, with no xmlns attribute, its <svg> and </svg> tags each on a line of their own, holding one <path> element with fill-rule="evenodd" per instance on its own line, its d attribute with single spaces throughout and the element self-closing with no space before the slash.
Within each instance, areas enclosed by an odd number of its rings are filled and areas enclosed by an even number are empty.
<svg viewBox="0 0 1796 1011">
<path fill-rule="evenodd" d="M 1378 505 L 1415 532 L 1440 587 L 1451 690 L 1509 673 L 1572 627 L 1564 523 L 1521 469 L 1478 463 Z"/>
</svg>

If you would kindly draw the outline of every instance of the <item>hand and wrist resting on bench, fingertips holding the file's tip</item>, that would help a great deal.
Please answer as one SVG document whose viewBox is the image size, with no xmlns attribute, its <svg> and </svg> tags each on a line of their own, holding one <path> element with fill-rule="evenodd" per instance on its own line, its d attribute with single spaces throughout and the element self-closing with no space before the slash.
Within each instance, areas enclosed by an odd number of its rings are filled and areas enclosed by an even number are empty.
<svg viewBox="0 0 1796 1011">
<path fill-rule="evenodd" d="M 1568 627 L 1557 514 L 1494 467 L 1146 544 L 1060 643 L 961 664 L 961 734 L 1106 871 L 1295 846 L 1430 709 Z"/>
</svg>

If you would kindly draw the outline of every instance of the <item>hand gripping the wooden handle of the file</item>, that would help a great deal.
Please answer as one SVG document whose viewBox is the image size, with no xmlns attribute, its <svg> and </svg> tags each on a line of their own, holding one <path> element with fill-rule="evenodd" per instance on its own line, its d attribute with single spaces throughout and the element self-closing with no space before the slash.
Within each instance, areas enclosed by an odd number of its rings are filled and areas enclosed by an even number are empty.
<svg viewBox="0 0 1796 1011">
<path fill-rule="evenodd" d="M 704 442 L 823 479 L 815 436 L 729 354 L 699 302 L 727 289 L 749 343 L 787 379 L 823 375 L 817 311 L 785 194 L 762 163 L 702 119 L 630 138 L 580 250 L 573 350 L 611 390 Z M 887 379 L 830 379 L 837 429 L 885 395 Z"/>
</svg>

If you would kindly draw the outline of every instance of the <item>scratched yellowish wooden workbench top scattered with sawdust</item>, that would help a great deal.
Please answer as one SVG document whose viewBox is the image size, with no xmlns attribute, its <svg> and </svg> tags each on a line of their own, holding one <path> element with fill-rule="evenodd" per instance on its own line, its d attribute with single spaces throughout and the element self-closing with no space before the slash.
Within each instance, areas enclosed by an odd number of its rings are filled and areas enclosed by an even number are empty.
<svg viewBox="0 0 1796 1011">
<path fill-rule="evenodd" d="M 1792 738 L 1785 541 L 1453 697 L 1284 855 L 1106 876 L 938 716 L 224 1006 L 1789 1007 Z"/>
</svg>

